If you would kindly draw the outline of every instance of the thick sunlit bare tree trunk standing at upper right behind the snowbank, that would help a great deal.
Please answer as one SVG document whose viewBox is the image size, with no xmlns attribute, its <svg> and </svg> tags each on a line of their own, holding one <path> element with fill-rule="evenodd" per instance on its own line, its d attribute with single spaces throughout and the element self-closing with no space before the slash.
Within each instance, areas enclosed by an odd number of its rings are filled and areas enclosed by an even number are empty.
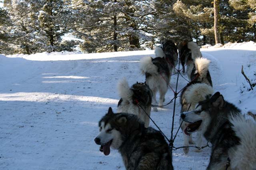
<svg viewBox="0 0 256 170">
<path fill-rule="evenodd" d="M 221 43 L 219 24 L 220 24 L 220 12 L 219 12 L 219 0 L 213 1 L 213 10 L 214 10 L 214 37 L 215 44 Z"/>
</svg>

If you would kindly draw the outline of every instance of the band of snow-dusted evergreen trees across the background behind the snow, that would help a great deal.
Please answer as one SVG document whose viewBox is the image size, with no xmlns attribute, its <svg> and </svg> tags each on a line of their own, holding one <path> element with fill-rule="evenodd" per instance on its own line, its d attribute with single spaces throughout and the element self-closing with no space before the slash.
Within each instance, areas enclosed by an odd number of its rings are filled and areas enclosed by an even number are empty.
<svg viewBox="0 0 256 170">
<path fill-rule="evenodd" d="M 256 41 L 256 0 L 219 1 L 222 43 Z M 0 0 L 1 3 L 1 0 Z M 157 43 L 215 44 L 212 0 L 4 0 L 0 53 L 154 49 Z M 64 41 L 65 34 L 81 41 Z"/>
</svg>

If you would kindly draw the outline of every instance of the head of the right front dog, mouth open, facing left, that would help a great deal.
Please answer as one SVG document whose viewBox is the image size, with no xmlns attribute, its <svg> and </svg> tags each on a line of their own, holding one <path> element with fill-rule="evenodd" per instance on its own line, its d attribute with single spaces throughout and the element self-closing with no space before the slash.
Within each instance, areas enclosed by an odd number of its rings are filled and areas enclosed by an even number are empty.
<svg viewBox="0 0 256 170">
<path fill-rule="evenodd" d="M 193 111 L 183 112 L 180 117 L 189 123 L 185 128 L 186 134 L 196 132 L 200 126 L 207 127 L 212 117 L 217 115 L 224 108 L 225 101 L 223 96 L 216 92 L 212 97 L 200 101 Z"/>
</svg>

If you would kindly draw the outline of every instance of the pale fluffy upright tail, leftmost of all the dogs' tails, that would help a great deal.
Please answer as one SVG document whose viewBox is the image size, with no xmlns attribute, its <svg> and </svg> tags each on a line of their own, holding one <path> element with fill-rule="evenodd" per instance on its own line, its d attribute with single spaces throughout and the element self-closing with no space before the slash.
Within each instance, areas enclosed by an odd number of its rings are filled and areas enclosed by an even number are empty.
<svg viewBox="0 0 256 170">
<path fill-rule="evenodd" d="M 126 78 L 118 81 L 117 89 L 118 94 L 122 99 L 126 99 L 128 101 L 132 100 L 133 91 L 130 89 Z"/>
</svg>

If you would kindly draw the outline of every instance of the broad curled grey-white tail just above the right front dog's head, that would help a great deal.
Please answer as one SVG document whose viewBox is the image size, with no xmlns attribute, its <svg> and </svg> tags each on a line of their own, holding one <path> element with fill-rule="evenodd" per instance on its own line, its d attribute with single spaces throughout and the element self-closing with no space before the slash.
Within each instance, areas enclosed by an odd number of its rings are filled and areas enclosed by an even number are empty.
<svg viewBox="0 0 256 170">
<path fill-rule="evenodd" d="M 185 93 L 185 99 L 187 103 L 196 105 L 198 102 L 203 101 L 206 97 L 210 97 L 214 93 L 212 87 L 206 83 L 195 83 L 190 85 Z M 194 109 L 194 107 L 191 107 Z"/>
</svg>

